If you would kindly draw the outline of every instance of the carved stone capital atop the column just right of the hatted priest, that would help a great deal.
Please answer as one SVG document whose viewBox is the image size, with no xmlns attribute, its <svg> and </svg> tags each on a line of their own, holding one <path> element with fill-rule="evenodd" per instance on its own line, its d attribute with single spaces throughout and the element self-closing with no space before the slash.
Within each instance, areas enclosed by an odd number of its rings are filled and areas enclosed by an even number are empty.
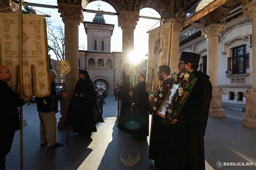
<svg viewBox="0 0 256 170">
<path fill-rule="evenodd" d="M 220 36 L 220 33 L 223 32 L 224 30 L 225 30 L 225 25 L 212 23 L 208 26 L 202 27 L 201 32 L 202 32 L 202 36 L 205 36 L 205 38 L 208 38 L 212 36 Z"/>
</svg>

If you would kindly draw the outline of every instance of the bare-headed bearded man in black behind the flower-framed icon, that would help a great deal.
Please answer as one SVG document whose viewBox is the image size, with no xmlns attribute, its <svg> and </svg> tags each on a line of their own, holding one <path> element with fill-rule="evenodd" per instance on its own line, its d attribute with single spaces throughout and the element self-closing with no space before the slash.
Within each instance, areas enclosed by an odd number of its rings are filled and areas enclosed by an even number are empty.
<svg viewBox="0 0 256 170">
<path fill-rule="evenodd" d="M 171 79 L 168 77 L 170 72 L 171 69 L 169 66 L 163 65 L 158 68 L 157 75 L 159 80 L 162 81 L 162 84 L 155 97 L 163 95 L 160 89 L 168 90 L 171 86 Z M 163 96 L 163 98 L 165 98 L 165 96 Z M 151 101 L 152 100 L 154 100 L 154 98 L 151 98 Z M 174 131 L 171 129 L 171 126 L 164 125 L 162 118 L 156 114 L 156 111 L 159 109 L 159 107 L 160 103 L 157 108 L 152 109 L 153 112 L 150 133 L 149 158 L 154 160 L 154 166 L 157 169 L 170 169 L 170 162 L 175 157 L 171 157 L 172 152 L 167 150 L 167 148 L 169 146 L 175 147 L 172 145 L 172 140 L 169 139 L 169 136 L 172 136 L 172 132 Z"/>
</svg>

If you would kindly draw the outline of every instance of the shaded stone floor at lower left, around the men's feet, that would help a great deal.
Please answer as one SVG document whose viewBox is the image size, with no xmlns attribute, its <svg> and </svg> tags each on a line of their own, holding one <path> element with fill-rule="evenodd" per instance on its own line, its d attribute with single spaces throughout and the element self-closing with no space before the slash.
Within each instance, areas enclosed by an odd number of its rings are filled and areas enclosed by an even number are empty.
<svg viewBox="0 0 256 170">
<path fill-rule="evenodd" d="M 47 148 L 39 143 L 39 124 L 31 124 L 24 128 L 24 169 L 78 169 L 86 157 L 92 152 L 87 148 L 91 138 L 69 133 L 69 145 L 65 143 L 65 131 L 57 132 L 57 141 L 64 143 L 58 148 Z M 6 159 L 6 169 L 19 169 L 19 131 L 15 134 L 14 144 Z"/>
</svg>

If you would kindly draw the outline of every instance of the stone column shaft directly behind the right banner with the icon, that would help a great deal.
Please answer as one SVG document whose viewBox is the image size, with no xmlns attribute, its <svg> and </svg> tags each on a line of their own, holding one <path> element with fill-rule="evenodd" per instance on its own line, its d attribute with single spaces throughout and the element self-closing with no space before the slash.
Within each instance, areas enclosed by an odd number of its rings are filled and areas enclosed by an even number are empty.
<svg viewBox="0 0 256 170">
<path fill-rule="evenodd" d="M 179 63 L 179 35 L 181 31 L 181 26 L 183 23 L 179 18 L 170 18 L 174 19 L 173 22 L 173 34 L 172 34 L 172 49 L 171 49 L 171 73 L 179 72 L 178 63 Z"/>
</svg>

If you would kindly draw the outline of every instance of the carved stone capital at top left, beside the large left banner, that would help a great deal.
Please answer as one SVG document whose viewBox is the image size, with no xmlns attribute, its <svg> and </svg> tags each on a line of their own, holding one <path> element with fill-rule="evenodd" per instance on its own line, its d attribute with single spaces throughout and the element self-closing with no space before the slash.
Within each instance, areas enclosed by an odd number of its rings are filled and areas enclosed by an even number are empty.
<svg viewBox="0 0 256 170">
<path fill-rule="evenodd" d="M 63 23 L 65 20 L 73 20 L 77 22 L 78 25 L 84 22 L 84 14 L 81 5 L 66 4 L 58 2 L 58 12 L 60 17 L 62 17 Z"/>
</svg>

